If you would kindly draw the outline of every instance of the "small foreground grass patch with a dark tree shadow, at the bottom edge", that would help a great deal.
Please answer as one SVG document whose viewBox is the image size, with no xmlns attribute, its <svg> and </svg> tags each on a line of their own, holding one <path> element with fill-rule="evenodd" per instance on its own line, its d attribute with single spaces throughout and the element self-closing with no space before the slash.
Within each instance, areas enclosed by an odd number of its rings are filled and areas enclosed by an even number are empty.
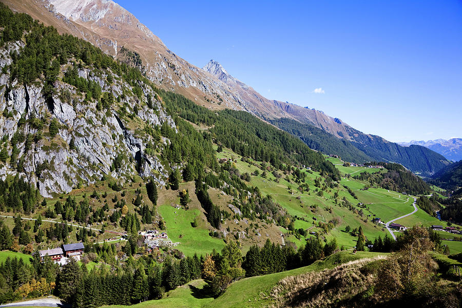
<svg viewBox="0 0 462 308">
<path fill-rule="evenodd" d="M 133 307 L 133 308 L 199 308 L 204 304 L 213 300 L 213 297 L 209 297 L 202 288 L 205 285 L 205 281 L 202 279 L 193 280 L 185 285 L 177 287 L 175 290 L 170 291 L 167 297 L 159 300 L 149 300 L 139 304 L 131 306 L 113 305 L 104 306 L 107 308 L 122 308 L 122 307 Z"/>
</svg>

